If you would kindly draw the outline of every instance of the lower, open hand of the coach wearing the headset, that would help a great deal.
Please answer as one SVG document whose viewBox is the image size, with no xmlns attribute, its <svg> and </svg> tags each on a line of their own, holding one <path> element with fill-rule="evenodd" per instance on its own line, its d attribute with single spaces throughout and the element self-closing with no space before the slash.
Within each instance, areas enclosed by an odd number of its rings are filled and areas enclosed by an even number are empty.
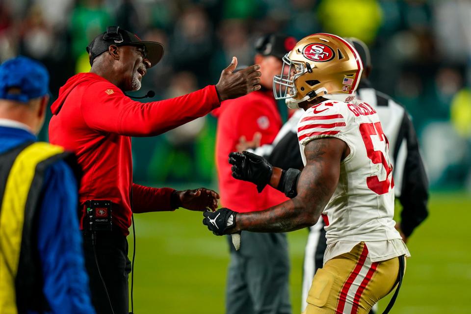
<svg viewBox="0 0 471 314">
<path fill-rule="evenodd" d="M 213 190 L 200 187 L 194 190 L 175 191 L 172 195 L 174 208 L 183 207 L 189 210 L 216 210 L 219 194 Z"/>
</svg>

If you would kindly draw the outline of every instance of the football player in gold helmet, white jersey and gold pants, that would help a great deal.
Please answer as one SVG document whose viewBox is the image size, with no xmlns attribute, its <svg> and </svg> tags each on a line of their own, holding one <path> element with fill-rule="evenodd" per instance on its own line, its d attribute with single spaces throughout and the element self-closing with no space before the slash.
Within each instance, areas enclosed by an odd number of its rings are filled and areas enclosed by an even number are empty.
<svg viewBox="0 0 471 314">
<path fill-rule="evenodd" d="M 354 97 L 362 70 L 358 52 L 339 36 L 319 33 L 299 41 L 273 89 L 288 107 L 305 110 L 297 130 L 304 169 L 285 171 L 247 152 L 229 158 L 236 179 L 259 188 L 270 184 L 292 198 L 257 212 L 204 213 L 215 235 L 287 232 L 322 216 L 327 249 L 307 314 L 367 314 L 400 287 L 404 256 L 410 256 L 392 219 L 388 140 L 376 111 Z"/>
</svg>

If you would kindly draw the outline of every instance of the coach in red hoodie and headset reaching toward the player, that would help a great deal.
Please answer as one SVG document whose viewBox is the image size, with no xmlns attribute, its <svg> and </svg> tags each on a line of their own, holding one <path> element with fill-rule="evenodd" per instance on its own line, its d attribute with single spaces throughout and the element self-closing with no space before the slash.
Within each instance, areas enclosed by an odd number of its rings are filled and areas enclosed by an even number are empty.
<svg viewBox="0 0 471 314">
<path fill-rule="evenodd" d="M 59 98 L 52 104 L 49 137 L 51 143 L 78 156 L 83 169 L 79 190 L 82 222 L 87 201 L 112 202 L 112 231 L 86 232 L 90 224 L 85 220 L 85 262 L 97 313 L 128 314 L 131 265 L 126 235 L 131 213 L 178 207 L 215 209 L 219 198 L 205 188 L 175 191 L 132 183 L 131 136 L 163 133 L 206 115 L 223 100 L 258 90 L 260 72 L 254 65 L 233 74 L 234 58 L 216 85 L 143 104 L 132 101 L 123 91 L 141 87 L 147 69 L 162 57 L 161 44 L 141 41 L 131 32 L 110 26 L 88 45 L 87 52 L 91 71 L 70 78 L 60 88 Z"/>
</svg>

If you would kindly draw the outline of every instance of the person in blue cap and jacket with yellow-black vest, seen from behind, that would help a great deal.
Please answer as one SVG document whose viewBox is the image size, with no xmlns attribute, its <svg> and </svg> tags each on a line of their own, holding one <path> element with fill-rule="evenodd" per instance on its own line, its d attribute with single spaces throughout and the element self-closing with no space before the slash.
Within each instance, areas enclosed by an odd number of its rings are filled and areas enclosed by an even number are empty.
<svg viewBox="0 0 471 314">
<path fill-rule="evenodd" d="M 94 314 L 78 229 L 74 156 L 38 142 L 46 68 L 0 66 L 0 313 Z"/>
</svg>

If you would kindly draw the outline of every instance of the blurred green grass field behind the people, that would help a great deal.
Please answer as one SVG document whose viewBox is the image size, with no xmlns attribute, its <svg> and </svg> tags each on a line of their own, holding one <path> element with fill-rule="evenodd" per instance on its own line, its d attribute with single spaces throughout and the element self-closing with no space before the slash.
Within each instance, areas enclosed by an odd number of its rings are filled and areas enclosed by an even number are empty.
<svg viewBox="0 0 471 314">
<path fill-rule="evenodd" d="M 429 217 L 409 240 L 412 258 L 391 313 L 470 313 L 471 195 L 434 193 L 429 208 Z M 135 216 L 135 313 L 225 312 L 227 242 L 210 234 L 201 221 L 200 212 L 183 209 Z M 300 313 L 307 231 L 292 232 L 288 238 L 291 302 L 296 314 Z M 132 234 L 128 241 L 131 258 Z M 388 301 L 389 297 L 380 301 L 380 310 Z"/>
</svg>

